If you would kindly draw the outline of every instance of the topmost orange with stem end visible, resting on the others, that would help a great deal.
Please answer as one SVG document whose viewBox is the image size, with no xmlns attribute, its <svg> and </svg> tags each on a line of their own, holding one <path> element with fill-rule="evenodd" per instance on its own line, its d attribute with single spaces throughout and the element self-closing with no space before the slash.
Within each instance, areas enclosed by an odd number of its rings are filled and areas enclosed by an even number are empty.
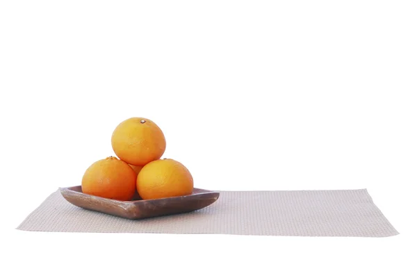
<svg viewBox="0 0 417 278">
<path fill-rule="evenodd" d="M 122 161 L 143 166 L 161 158 L 166 142 L 163 132 L 154 122 L 144 117 L 131 117 L 113 131 L 111 145 Z"/>
</svg>

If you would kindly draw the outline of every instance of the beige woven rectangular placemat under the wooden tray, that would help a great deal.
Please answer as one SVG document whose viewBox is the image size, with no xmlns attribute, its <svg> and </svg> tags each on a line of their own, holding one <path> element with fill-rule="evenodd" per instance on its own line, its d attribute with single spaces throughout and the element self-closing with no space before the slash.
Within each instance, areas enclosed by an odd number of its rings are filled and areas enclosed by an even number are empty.
<svg viewBox="0 0 417 278">
<path fill-rule="evenodd" d="M 52 193 L 17 229 L 100 233 L 269 236 L 395 236 L 366 189 L 221 191 L 193 213 L 126 220 L 88 211 Z"/>
</svg>

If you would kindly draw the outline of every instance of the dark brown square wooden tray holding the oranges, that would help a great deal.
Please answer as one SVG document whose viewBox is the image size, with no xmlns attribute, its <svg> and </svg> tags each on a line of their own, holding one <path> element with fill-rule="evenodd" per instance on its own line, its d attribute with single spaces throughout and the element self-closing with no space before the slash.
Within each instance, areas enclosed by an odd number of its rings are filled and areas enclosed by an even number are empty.
<svg viewBox="0 0 417 278">
<path fill-rule="evenodd" d="M 181 197 L 144 200 L 136 193 L 131 201 L 118 201 L 85 194 L 81 191 L 81 186 L 60 188 L 60 193 L 75 206 L 129 219 L 197 211 L 213 204 L 220 195 L 219 191 L 194 188 L 193 194 Z"/>
</svg>

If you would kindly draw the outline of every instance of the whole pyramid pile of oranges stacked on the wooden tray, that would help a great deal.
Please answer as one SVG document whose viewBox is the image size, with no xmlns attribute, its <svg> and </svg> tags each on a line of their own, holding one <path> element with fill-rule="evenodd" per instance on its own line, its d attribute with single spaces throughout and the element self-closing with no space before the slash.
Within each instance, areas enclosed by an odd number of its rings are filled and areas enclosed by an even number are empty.
<svg viewBox="0 0 417 278">
<path fill-rule="evenodd" d="M 151 120 L 132 117 L 116 126 L 111 136 L 114 156 L 92 163 L 81 181 L 83 193 L 129 201 L 177 197 L 193 193 L 190 171 L 173 159 L 160 159 L 166 141 Z"/>
</svg>

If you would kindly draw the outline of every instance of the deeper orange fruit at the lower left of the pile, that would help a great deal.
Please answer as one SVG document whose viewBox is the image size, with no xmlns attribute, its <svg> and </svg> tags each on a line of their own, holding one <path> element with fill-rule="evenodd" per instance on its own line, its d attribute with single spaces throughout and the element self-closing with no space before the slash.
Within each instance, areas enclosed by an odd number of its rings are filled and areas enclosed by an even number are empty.
<svg viewBox="0 0 417 278">
<path fill-rule="evenodd" d="M 88 167 L 81 182 L 81 189 L 85 194 L 129 201 L 135 194 L 136 177 L 136 172 L 129 164 L 109 156 Z"/>
</svg>

